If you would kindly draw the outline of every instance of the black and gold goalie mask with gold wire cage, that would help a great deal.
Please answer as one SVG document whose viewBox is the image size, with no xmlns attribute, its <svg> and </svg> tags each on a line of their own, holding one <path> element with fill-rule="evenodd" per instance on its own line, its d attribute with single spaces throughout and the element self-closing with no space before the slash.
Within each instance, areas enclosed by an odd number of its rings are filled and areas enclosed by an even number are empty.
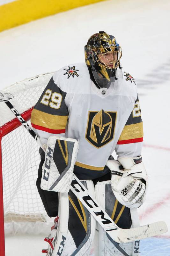
<svg viewBox="0 0 170 256">
<path fill-rule="evenodd" d="M 104 31 L 92 35 L 85 45 L 85 62 L 90 77 L 100 88 L 109 88 L 115 82 L 121 57 L 122 49 L 115 37 Z"/>
</svg>

